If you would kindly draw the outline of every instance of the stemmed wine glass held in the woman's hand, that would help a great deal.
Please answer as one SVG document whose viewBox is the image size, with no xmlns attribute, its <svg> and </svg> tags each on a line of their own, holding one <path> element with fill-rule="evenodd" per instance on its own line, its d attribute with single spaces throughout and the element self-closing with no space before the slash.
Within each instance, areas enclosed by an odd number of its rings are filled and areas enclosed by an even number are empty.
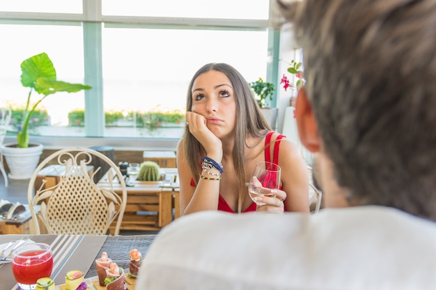
<svg viewBox="0 0 436 290">
<path fill-rule="evenodd" d="M 260 161 L 257 162 L 248 185 L 248 192 L 258 206 L 265 205 L 265 202 L 257 201 L 256 197 L 275 197 L 271 190 L 279 189 L 281 168 L 279 165 Z"/>
</svg>

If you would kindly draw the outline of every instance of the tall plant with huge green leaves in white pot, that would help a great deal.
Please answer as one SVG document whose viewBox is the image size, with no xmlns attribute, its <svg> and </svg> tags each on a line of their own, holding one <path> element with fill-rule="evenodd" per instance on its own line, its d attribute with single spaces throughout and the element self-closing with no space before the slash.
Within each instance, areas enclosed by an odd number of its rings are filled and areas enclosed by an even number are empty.
<svg viewBox="0 0 436 290">
<path fill-rule="evenodd" d="M 52 60 L 49 59 L 45 52 L 24 60 L 21 63 L 21 70 L 21 83 L 23 86 L 30 88 L 22 125 L 20 132 L 17 134 L 16 144 L 1 145 L 1 151 L 10 169 L 9 177 L 12 179 L 30 178 L 38 165 L 42 153 L 42 145 L 29 144 L 28 128 L 29 120 L 40 102 L 58 91 L 74 93 L 84 89 L 91 89 L 91 86 L 84 84 L 70 84 L 57 80 Z M 40 94 L 40 98 L 36 102 L 31 100 L 33 91 Z"/>
</svg>

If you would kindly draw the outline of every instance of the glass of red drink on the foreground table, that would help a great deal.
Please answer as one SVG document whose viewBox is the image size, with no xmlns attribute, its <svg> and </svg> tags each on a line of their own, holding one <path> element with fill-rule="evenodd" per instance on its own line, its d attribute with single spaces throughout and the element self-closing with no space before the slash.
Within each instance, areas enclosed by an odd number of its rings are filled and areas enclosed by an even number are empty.
<svg viewBox="0 0 436 290">
<path fill-rule="evenodd" d="M 36 280 L 50 277 L 52 270 L 52 249 L 45 243 L 26 243 L 12 252 L 12 271 L 20 289 L 35 289 Z"/>
</svg>

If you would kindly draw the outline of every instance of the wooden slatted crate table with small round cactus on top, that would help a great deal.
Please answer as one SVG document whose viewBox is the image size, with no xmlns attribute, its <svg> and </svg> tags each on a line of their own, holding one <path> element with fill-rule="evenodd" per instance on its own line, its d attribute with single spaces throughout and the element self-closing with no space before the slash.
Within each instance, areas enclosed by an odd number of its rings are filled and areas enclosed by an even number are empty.
<svg viewBox="0 0 436 290">
<path fill-rule="evenodd" d="M 122 192 L 114 180 L 114 191 Z M 109 188 L 107 177 L 97 183 L 99 188 Z M 174 214 L 173 214 L 174 211 Z M 180 217 L 180 192 L 178 183 L 166 181 L 134 181 L 127 187 L 127 204 L 120 229 L 159 231 L 162 227 Z M 115 224 L 111 226 L 113 234 Z"/>
</svg>

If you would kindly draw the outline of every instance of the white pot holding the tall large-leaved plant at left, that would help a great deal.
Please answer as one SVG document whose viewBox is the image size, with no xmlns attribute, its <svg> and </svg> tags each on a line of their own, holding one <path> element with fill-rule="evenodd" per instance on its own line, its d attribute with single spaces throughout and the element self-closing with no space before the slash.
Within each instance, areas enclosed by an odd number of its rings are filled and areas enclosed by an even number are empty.
<svg viewBox="0 0 436 290">
<path fill-rule="evenodd" d="M 8 163 L 10 179 L 29 179 L 38 166 L 42 144 L 29 144 L 28 148 L 19 148 L 17 144 L 1 145 L 1 153 Z"/>
</svg>

